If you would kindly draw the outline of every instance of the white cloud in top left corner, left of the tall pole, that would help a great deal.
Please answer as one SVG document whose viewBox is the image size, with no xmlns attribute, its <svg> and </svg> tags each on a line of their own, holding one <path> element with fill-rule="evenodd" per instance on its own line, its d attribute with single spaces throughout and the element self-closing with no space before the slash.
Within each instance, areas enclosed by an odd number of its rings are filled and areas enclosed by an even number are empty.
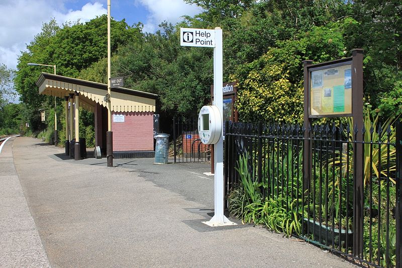
<svg viewBox="0 0 402 268">
<path fill-rule="evenodd" d="M 40 33 L 42 24 L 55 18 L 57 23 L 80 19 L 87 22 L 107 10 L 99 2 L 87 3 L 80 10 L 66 10 L 67 0 L 2 0 L 0 2 L 0 63 L 15 69 L 26 44 Z M 89 2 L 89 0 L 88 0 Z M 105 5 L 106 6 L 106 5 Z"/>
</svg>

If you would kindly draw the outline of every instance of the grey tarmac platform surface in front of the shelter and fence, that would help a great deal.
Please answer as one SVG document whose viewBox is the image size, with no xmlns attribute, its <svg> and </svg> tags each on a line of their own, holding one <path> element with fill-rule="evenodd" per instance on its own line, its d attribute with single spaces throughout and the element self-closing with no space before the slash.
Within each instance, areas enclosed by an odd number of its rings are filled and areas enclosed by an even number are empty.
<svg viewBox="0 0 402 268">
<path fill-rule="evenodd" d="M 7 195 L 28 204 L 42 242 L 32 243 L 43 245 L 52 267 L 354 266 L 265 228 L 203 224 L 213 209 L 213 177 L 203 174 L 209 164 L 115 159 L 116 167 L 108 168 L 106 159 L 66 159 L 64 149 L 36 139 L 20 137 L 12 144 L 14 181 L 23 193 Z M 25 217 L 17 209 L 6 212 L 6 218 L 13 215 Z M 7 248 L 18 234 L 2 235 L 8 239 L 0 248 Z"/>
</svg>

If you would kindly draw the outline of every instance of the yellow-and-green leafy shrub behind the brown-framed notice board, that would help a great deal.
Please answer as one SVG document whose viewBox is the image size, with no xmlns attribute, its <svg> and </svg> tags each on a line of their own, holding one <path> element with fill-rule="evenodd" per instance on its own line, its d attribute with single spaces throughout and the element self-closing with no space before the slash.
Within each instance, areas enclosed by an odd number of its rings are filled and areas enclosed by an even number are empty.
<svg viewBox="0 0 402 268">
<path fill-rule="evenodd" d="M 351 19 L 313 27 L 295 40 L 277 41 L 276 46 L 231 76 L 242 89 L 236 103 L 244 121 L 303 121 L 303 60 L 334 60 L 347 54 L 344 33 Z"/>
</svg>

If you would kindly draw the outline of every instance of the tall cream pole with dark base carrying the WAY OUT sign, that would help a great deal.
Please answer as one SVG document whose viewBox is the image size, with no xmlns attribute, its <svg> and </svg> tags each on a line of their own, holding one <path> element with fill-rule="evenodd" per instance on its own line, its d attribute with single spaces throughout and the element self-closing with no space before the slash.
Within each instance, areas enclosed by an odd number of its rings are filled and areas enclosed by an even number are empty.
<svg viewBox="0 0 402 268">
<path fill-rule="evenodd" d="M 112 96 L 110 88 L 111 73 L 111 45 L 110 45 L 110 2 L 108 0 L 108 132 L 106 132 L 106 155 L 108 159 L 108 167 L 113 167 L 113 132 L 112 132 Z"/>
</svg>

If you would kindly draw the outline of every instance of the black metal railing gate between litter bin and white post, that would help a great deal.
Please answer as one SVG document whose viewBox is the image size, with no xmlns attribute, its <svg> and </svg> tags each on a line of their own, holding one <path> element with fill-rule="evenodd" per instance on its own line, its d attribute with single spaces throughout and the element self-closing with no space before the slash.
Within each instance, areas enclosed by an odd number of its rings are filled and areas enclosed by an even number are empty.
<svg viewBox="0 0 402 268">
<path fill-rule="evenodd" d="M 197 120 L 173 118 L 174 163 L 205 162 L 211 160 L 211 148 L 198 137 Z"/>
</svg>

